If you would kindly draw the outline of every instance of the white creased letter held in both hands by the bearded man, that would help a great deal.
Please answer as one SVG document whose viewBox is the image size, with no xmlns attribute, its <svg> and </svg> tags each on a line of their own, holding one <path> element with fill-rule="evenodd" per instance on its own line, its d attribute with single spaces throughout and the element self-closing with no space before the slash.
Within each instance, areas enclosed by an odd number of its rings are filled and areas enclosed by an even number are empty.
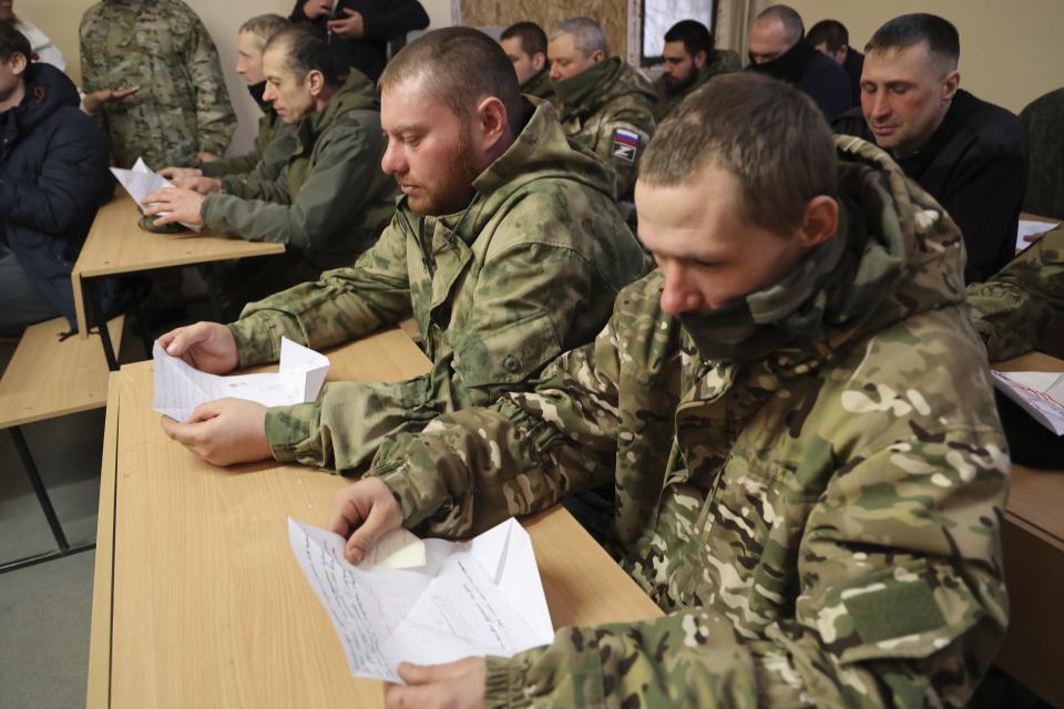
<svg viewBox="0 0 1064 709">
<path fill-rule="evenodd" d="M 329 372 L 329 358 L 280 339 L 280 367 L 277 373 L 208 374 L 171 357 L 155 343 L 155 392 L 152 408 L 177 421 L 187 421 L 202 403 L 225 399 L 246 399 L 265 407 L 283 407 L 314 401 Z"/>
</svg>

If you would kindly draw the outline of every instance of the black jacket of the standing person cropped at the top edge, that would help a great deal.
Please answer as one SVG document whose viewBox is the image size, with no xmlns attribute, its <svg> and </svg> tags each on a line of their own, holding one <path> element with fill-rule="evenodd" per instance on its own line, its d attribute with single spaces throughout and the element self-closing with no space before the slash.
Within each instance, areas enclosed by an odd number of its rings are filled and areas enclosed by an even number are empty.
<svg viewBox="0 0 1064 709">
<path fill-rule="evenodd" d="M 336 60 L 336 70 L 340 75 L 354 66 L 374 83 L 380 79 L 388 61 L 388 42 L 403 37 L 413 30 L 423 30 L 429 27 L 429 16 L 418 0 L 339 0 L 336 3 L 334 18 L 344 19 L 347 10 L 355 10 L 362 16 L 366 22 L 366 35 L 359 39 L 344 39 L 328 31 L 328 16 L 315 20 L 308 18 L 303 6 L 306 0 L 296 0 L 289 20 L 293 22 L 309 22 L 323 35 L 328 37 L 332 59 Z"/>
</svg>

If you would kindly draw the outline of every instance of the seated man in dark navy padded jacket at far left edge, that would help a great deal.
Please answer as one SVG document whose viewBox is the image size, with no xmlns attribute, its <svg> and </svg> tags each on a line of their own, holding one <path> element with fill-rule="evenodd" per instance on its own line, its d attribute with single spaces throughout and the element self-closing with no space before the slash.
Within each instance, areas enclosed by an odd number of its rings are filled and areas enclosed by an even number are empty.
<svg viewBox="0 0 1064 709">
<path fill-rule="evenodd" d="M 30 41 L 0 22 L 0 331 L 63 315 L 70 271 L 113 183 L 108 141 L 78 90 Z M 110 298 L 105 298 L 110 300 Z M 110 304 L 105 302 L 108 308 Z"/>
</svg>

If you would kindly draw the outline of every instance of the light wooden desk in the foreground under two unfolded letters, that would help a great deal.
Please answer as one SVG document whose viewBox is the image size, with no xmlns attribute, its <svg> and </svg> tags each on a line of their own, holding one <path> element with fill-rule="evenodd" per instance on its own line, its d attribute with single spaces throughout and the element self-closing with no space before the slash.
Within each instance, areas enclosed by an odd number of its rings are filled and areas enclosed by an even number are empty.
<svg viewBox="0 0 1064 709">
<path fill-rule="evenodd" d="M 329 353 L 330 379 L 428 368 L 398 330 Z M 297 465 L 219 470 L 163 434 L 151 362 L 112 373 L 96 536 L 88 706 L 380 707 L 351 678 L 288 545 L 347 480 Z M 661 610 L 555 507 L 526 520 L 555 627 Z"/>
</svg>

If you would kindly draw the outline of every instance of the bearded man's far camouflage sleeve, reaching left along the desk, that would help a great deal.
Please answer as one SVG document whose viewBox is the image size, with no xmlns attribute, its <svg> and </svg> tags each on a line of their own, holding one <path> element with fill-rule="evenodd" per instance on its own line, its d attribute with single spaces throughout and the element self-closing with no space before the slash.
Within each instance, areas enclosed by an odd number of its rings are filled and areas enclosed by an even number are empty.
<svg viewBox="0 0 1064 709">
<path fill-rule="evenodd" d="M 282 336 L 324 349 L 411 314 L 406 240 L 393 223 L 350 268 L 248 304 L 229 331 L 239 366 L 249 367 L 277 361 Z"/>
</svg>

